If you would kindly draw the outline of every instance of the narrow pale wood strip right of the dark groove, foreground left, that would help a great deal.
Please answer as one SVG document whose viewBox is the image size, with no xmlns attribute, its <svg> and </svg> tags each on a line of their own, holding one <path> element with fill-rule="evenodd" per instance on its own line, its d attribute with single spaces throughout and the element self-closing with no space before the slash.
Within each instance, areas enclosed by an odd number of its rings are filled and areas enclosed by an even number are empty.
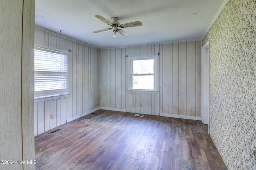
<svg viewBox="0 0 256 170">
<path fill-rule="evenodd" d="M 33 88 L 34 87 L 34 51 L 33 50 L 34 50 L 34 27 L 35 27 L 34 16 L 35 16 L 35 0 L 23 0 L 22 82 L 21 82 L 22 84 L 21 100 L 22 100 L 23 160 L 35 160 L 34 88 Z M 23 169 L 34 170 L 35 165 L 24 164 Z"/>
</svg>

